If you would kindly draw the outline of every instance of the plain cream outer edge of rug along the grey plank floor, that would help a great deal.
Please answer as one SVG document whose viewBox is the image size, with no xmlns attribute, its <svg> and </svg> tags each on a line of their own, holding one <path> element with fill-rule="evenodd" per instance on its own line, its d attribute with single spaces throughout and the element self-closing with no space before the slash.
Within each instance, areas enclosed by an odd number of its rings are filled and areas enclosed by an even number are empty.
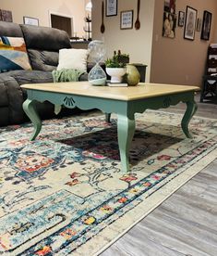
<svg viewBox="0 0 217 256">
<path fill-rule="evenodd" d="M 151 213 L 151 211 L 153 211 L 159 205 L 161 205 L 164 200 L 171 197 L 175 193 L 175 191 L 177 191 L 180 187 L 184 186 L 190 179 L 192 179 L 195 175 L 197 175 L 199 172 L 201 172 L 207 165 L 209 165 L 213 160 L 215 160 L 216 155 L 217 155 L 217 148 L 215 148 L 213 151 L 211 151 L 211 153 L 206 155 L 206 157 L 202 158 L 197 163 L 195 163 L 194 165 L 187 168 L 187 171 L 179 174 L 172 181 L 170 181 L 165 186 L 163 186 L 160 190 L 156 191 L 154 194 L 151 195 L 150 198 L 146 198 L 143 203 L 139 204 L 139 206 L 137 206 L 133 210 L 131 210 L 129 213 L 130 215 L 137 215 L 138 214 L 137 211 L 139 208 L 141 209 L 142 205 L 144 205 L 144 204 L 147 205 L 147 203 L 149 203 L 149 201 L 152 200 L 152 198 L 157 198 L 157 197 L 161 196 L 161 199 L 159 199 L 157 202 L 153 203 L 152 206 L 150 207 L 150 209 L 148 211 L 146 211 L 146 213 L 140 215 L 136 222 L 134 222 L 131 225 L 128 225 L 127 228 L 121 234 L 119 234 L 117 237 L 113 238 L 108 244 L 104 245 L 102 248 L 100 248 L 100 247 L 98 249 L 96 248 L 96 244 L 97 245 L 102 244 L 101 237 L 103 237 L 103 233 L 107 233 L 108 230 L 111 229 L 110 226 L 108 226 L 107 228 L 102 230 L 102 232 L 101 232 L 102 236 L 100 237 L 100 239 L 99 239 L 99 236 L 92 237 L 88 242 L 86 242 L 83 246 L 81 246 L 78 250 L 76 250 L 74 252 L 75 255 L 77 255 L 77 253 L 78 253 L 78 255 L 82 255 L 82 253 L 84 253 L 84 252 L 86 252 L 86 253 L 88 252 L 92 256 L 97 256 L 97 255 L 101 254 L 104 250 L 108 249 L 111 245 L 113 245 L 120 237 L 123 237 L 132 227 L 134 227 L 136 224 L 139 224 L 139 222 L 142 219 L 144 219 L 147 215 L 149 215 Z M 179 180 L 179 179 L 181 179 L 182 181 L 179 182 L 179 186 L 175 186 L 175 183 L 177 183 L 177 180 Z M 172 187 L 170 189 L 168 189 L 168 187 L 171 185 L 172 185 Z M 121 222 L 123 224 L 125 219 L 128 218 L 129 214 L 124 215 L 120 219 L 115 221 L 115 223 L 113 224 L 113 227 L 115 225 L 118 226 L 119 222 Z M 101 242 L 97 242 L 97 240 L 100 240 Z M 94 243 L 94 247 L 90 247 L 90 243 Z M 92 251 L 90 251 L 90 248 L 92 248 Z"/>
</svg>

